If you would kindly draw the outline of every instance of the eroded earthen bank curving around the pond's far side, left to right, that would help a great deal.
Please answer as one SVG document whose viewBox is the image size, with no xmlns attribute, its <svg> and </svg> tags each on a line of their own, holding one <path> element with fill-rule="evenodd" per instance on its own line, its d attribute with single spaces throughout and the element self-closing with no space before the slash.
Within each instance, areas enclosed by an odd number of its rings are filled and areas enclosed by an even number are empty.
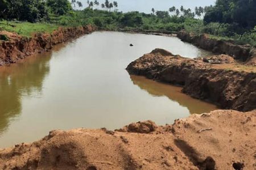
<svg viewBox="0 0 256 170">
<path fill-rule="evenodd" d="M 32 54 L 48 52 L 53 45 L 75 39 L 82 35 L 92 33 L 94 31 L 112 31 L 87 25 L 85 27 L 70 27 L 53 31 L 52 33 L 35 33 L 34 37 L 27 38 L 19 36 L 17 33 L 0 31 L 0 34 L 7 34 L 9 41 L 0 41 L 0 67 L 6 64 L 15 63 L 20 59 L 24 59 Z M 126 33 L 142 33 L 144 35 L 156 36 L 174 36 L 181 41 L 193 44 L 198 48 L 208 50 L 213 54 L 228 54 L 234 59 L 241 61 L 243 65 L 256 66 L 256 49 L 248 45 L 236 45 L 232 42 L 214 40 L 208 35 L 194 35 L 185 31 L 154 31 L 154 30 L 138 30 L 138 29 L 118 29 L 117 32 Z"/>
</svg>

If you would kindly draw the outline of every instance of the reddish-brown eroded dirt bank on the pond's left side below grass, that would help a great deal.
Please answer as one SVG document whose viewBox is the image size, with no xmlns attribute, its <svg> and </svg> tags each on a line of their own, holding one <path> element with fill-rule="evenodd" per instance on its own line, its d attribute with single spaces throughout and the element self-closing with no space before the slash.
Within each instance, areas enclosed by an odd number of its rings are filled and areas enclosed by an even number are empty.
<svg viewBox="0 0 256 170">
<path fill-rule="evenodd" d="M 9 37 L 9 41 L 0 41 L 0 66 L 15 63 L 34 53 L 42 53 L 59 44 L 91 33 L 96 28 L 86 27 L 59 28 L 52 33 L 36 33 L 33 37 L 22 37 L 16 33 L 1 31 L 1 35 Z"/>
</svg>

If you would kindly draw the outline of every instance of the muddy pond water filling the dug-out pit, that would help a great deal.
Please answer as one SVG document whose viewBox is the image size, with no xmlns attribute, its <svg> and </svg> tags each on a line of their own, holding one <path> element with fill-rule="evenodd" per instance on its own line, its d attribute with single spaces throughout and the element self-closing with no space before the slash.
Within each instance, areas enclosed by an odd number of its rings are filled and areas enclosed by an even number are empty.
<svg viewBox="0 0 256 170">
<path fill-rule="evenodd" d="M 94 32 L 0 67 L 0 147 L 36 141 L 53 129 L 113 130 L 143 120 L 165 125 L 217 109 L 180 87 L 127 73 L 131 61 L 155 48 L 210 54 L 176 37 Z"/>
</svg>

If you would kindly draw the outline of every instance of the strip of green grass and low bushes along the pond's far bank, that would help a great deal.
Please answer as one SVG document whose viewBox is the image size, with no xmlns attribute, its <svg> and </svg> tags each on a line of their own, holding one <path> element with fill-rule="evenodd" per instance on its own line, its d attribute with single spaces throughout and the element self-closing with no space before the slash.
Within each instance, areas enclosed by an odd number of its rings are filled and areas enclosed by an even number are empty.
<svg viewBox="0 0 256 170">
<path fill-rule="evenodd" d="M 48 20 L 48 22 L 50 22 Z M 234 44 L 250 44 L 256 46 L 256 29 L 242 35 L 235 32 L 232 25 L 210 23 L 188 16 L 152 15 L 141 12 L 111 12 L 85 8 L 82 11 L 73 11 L 58 17 L 56 24 L 28 23 L 28 22 L 0 22 L 0 29 L 16 32 L 19 35 L 30 37 L 35 32 L 52 32 L 58 27 L 77 27 L 92 24 L 110 31 L 162 31 L 177 32 L 185 30 L 196 34 L 208 33 L 212 39 L 232 41 Z"/>
</svg>

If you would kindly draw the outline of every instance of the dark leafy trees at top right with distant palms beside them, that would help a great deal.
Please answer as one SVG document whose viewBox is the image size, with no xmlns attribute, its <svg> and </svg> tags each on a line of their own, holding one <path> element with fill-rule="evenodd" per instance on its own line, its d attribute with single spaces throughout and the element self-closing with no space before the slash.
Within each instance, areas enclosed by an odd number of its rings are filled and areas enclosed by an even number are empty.
<svg viewBox="0 0 256 170">
<path fill-rule="evenodd" d="M 214 6 L 199 6 L 193 11 L 183 6 L 172 6 L 168 11 L 156 11 L 152 8 L 151 11 L 158 18 L 167 18 L 170 15 L 185 18 L 197 16 L 198 19 L 203 19 L 204 25 L 218 23 L 217 34 L 221 27 L 226 27 L 231 35 L 255 32 L 256 29 L 256 0 L 217 0 Z"/>
</svg>

